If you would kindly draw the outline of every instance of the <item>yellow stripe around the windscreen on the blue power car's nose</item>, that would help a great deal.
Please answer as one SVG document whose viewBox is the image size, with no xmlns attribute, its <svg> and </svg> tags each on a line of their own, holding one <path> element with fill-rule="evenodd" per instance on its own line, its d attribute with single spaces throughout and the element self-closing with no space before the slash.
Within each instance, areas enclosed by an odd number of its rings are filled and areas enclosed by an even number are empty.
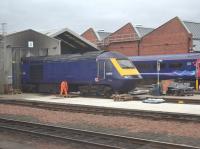
<svg viewBox="0 0 200 149">
<path fill-rule="evenodd" d="M 115 58 L 111 58 L 110 60 L 121 76 L 139 75 L 136 68 L 123 69 Z"/>
</svg>

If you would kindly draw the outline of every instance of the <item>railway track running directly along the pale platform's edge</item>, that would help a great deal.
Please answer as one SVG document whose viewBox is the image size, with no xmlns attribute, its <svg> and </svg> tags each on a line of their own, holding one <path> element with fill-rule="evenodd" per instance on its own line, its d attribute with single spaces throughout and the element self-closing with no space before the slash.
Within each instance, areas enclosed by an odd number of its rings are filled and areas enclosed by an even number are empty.
<svg viewBox="0 0 200 149">
<path fill-rule="evenodd" d="M 111 116 L 128 116 L 128 117 L 142 117 L 153 119 L 168 119 L 179 121 L 193 121 L 200 122 L 200 115 L 184 114 L 184 113 L 171 113 L 161 111 L 148 111 L 148 110 L 135 110 L 135 109 L 122 109 L 122 108 L 108 108 L 97 107 L 77 104 L 60 104 L 42 101 L 27 101 L 27 100 L 0 100 L 0 104 L 27 106 L 32 108 L 48 109 L 53 111 L 67 111 L 89 114 L 102 114 Z"/>
</svg>

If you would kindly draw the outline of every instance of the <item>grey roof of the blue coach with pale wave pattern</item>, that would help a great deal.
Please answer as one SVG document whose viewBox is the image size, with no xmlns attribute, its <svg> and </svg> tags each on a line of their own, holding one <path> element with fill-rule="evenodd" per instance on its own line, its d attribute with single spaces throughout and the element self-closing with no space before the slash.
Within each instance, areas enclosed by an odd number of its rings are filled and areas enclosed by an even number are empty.
<svg viewBox="0 0 200 149">
<path fill-rule="evenodd" d="M 171 54 L 171 55 L 151 55 L 151 56 L 131 56 L 131 61 L 157 61 L 157 60 L 179 60 L 179 59 L 200 59 L 200 53 Z"/>
</svg>

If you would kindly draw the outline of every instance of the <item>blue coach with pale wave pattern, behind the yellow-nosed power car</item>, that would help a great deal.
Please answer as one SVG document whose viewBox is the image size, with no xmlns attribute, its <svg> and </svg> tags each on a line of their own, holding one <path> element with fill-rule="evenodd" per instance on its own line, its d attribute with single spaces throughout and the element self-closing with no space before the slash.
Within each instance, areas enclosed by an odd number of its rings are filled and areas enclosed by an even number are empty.
<svg viewBox="0 0 200 149">
<path fill-rule="evenodd" d="M 157 63 L 160 63 L 159 77 L 166 79 L 194 80 L 200 78 L 200 53 L 133 56 L 135 64 L 144 79 L 157 79 Z"/>
</svg>

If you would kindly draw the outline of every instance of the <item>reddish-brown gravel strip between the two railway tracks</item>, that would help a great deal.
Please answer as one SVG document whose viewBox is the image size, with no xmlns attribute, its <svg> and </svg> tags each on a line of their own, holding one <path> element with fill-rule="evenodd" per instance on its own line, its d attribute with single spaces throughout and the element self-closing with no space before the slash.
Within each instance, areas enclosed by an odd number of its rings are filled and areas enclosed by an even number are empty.
<svg viewBox="0 0 200 149">
<path fill-rule="evenodd" d="M 49 111 L 0 104 L 0 115 L 200 147 L 200 123 Z"/>
</svg>

